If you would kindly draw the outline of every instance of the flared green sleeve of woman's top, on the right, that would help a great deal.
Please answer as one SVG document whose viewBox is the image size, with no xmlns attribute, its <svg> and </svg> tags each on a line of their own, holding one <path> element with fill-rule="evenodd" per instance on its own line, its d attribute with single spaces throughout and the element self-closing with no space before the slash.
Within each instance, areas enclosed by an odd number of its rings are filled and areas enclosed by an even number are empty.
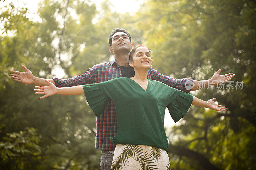
<svg viewBox="0 0 256 170">
<path fill-rule="evenodd" d="M 186 115 L 193 101 L 193 96 L 189 93 L 177 90 L 176 97 L 167 105 L 173 121 L 176 123 Z"/>
</svg>

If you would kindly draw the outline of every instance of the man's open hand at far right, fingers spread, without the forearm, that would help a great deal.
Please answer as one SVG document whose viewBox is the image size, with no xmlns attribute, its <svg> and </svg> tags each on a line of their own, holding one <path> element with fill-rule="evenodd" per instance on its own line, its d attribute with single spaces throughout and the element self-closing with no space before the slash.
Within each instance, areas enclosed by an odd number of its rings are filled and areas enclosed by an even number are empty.
<svg viewBox="0 0 256 170">
<path fill-rule="evenodd" d="M 219 85 L 219 84 L 227 83 L 233 77 L 236 76 L 233 73 L 228 73 L 228 74 L 225 74 L 225 75 L 219 75 L 220 71 L 221 70 L 219 69 L 217 72 L 215 72 L 213 74 L 212 78 L 210 79 L 210 83 L 212 83 L 213 85 Z"/>
</svg>

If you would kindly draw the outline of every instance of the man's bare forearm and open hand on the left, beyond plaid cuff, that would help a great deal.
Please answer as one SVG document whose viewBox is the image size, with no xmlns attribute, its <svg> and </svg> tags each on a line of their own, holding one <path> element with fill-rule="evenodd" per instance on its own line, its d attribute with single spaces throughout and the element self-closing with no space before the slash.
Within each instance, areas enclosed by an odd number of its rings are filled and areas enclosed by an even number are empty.
<svg viewBox="0 0 256 170">
<path fill-rule="evenodd" d="M 25 72 L 20 71 L 11 71 L 11 74 L 9 76 L 13 78 L 15 81 L 24 83 L 26 85 L 37 85 L 37 86 L 47 86 L 48 84 L 45 82 L 44 78 L 38 78 L 35 77 L 30 70 L 28 70 L 24 65 L 22 65 L 22 69 Z M 53 79 L 47 79 L 51 83 L 55 85 L 55 82 Z"/>
</svg>

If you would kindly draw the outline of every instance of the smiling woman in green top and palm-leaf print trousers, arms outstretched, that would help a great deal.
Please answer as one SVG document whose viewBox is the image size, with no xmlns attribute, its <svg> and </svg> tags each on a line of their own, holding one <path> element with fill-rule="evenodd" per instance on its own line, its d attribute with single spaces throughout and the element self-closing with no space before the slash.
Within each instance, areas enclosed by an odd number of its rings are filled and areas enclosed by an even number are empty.
<svg viewBox="0 0 256 170">
<path fill-rule="evenodd" d="M 36 94 L 42 98 L 53 94 L 85 94 L 89 106 L 99 116 L 109 100 L 116 105 L 117 132 L 112 169 L 170 169 L 168 141 L 164 131 L 164 113 L 168 107 L 174 122 L 179 121 L 191 104 L 217 111 L 225 106 L 207 102 L 191 94 L 169 87 L 155 80 L 148 80 L 152 59 L 150 50 L 143 46 L 132 49 L 129 65 L 134 68 L 132 78 L 115 78 L 106 82 L 57 88 L 38 87 Z"/>
</svg>

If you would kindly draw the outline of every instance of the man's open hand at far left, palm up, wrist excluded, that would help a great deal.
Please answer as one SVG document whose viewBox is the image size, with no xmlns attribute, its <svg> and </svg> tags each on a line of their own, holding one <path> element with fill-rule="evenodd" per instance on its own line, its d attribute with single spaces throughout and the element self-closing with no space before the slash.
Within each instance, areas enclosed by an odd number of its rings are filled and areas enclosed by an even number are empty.
<svg viewBox="0 0 256 170">
<path fill-rule="evenodd" d="M 12 74 L 9 74 L 11 78 L 13 78 L 15 81 L 24 83 L 26 85 L 34 84 L 34 75 L 30 70 L 28 70 L 24 65 L 22 65 L 22 69 L 26 72 L 20 72 L 20 71 L 11 71 Z"/>
</svg>

